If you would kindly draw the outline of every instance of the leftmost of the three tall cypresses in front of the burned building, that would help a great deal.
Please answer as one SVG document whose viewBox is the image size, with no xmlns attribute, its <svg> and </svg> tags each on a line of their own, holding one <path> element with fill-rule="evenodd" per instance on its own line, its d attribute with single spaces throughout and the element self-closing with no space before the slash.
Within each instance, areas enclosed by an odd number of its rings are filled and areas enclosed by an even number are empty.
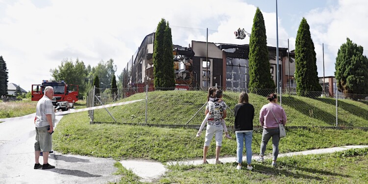
<svg viewBox="0 0 368 184">
<path fill-rule="evenodd" d="M 154 42 L 154 85 L 155 88 L 172 89 L 175 86 L 171 28 L 164 19 L 158 23 Z M 168 88 L 169 87 L 169 88 Z"/>
</svg>

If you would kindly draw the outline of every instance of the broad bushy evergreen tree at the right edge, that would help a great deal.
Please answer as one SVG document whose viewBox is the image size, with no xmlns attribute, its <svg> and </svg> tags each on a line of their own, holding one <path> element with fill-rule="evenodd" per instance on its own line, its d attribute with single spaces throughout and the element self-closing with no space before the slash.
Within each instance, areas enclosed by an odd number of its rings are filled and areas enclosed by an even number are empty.
<svg viewBox="0 0 368 184">
<path fill-rule="evenodd" d="M 350 94 L 368 94 L 368 59 L 363 55 L 362 46 L 346 38 L 346 43 L 338 51 L 335 69 L 338 89 L 345 97 L 351 98 Z"/>
</svg>

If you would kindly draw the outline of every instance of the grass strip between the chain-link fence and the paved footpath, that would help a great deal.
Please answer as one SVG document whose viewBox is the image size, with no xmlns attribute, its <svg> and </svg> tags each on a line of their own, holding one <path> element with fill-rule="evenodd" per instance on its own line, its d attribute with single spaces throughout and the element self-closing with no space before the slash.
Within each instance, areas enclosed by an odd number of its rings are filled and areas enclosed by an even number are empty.
<svg viewBox="0 0 368 184">
<path fill-rule="evenodd" d="M 53 134 L 53 149 L 63 154 L 103 158 L 143 158 L 161 162 L 201 159 L 204 133 L 196 138 L 194 129 L 169 129 L 145 126 L 89 124 L 87 112 L 65 115 Z M 289 130 L 281 139 L 280 153 L 345 145 L 368 145 L 368 132 L 362 130 Z M 231 136 L 235 138 L 233 132 Z M 261 131 L 253 134 L 252 150 L 258 153 Z M 267 145 L 266 154 L 271 153 Z M 212 141 L 209 158 L 214 157 Z M 223 140 L 221 157 L 235 157 L 236 140 Z"/>
</svg>

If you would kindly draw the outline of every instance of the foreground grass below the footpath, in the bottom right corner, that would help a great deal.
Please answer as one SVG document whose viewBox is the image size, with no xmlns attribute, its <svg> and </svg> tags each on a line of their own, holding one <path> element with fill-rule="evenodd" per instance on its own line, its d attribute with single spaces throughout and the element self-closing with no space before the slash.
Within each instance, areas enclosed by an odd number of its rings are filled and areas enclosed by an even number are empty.
<svg viewBox="0 0 368 184">
<path fill-rule="evenodd" d="M 353 154 L 351 154 L 353 153 Z M 368 149 L 348 150 L 335 154 L 279 158 L 253 163 L 254 170 L 237 170 L 237 163 L 197 166 L 173 165 L 155 183 L 160 184 L 274 184 L 274 183 L 368 183 Z M 246 165 L 246 163 L 243 163 Z"/>
</svg>

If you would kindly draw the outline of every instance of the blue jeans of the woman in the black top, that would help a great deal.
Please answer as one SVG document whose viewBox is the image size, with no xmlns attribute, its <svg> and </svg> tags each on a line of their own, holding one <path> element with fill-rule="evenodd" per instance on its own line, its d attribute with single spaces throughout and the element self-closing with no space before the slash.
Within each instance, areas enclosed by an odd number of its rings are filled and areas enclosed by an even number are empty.
<svg viewBox="0 0 368 184">
<path fill-rule="evenodd" d="M 241 163 L 243 159 L 243 142 L 245 139 L 245 151 L 247 152 L 247 163 L 252 163 L 252 138 L 253 132 L 235 133 L 237 136 L 237 163 Z"/>
</svg>

